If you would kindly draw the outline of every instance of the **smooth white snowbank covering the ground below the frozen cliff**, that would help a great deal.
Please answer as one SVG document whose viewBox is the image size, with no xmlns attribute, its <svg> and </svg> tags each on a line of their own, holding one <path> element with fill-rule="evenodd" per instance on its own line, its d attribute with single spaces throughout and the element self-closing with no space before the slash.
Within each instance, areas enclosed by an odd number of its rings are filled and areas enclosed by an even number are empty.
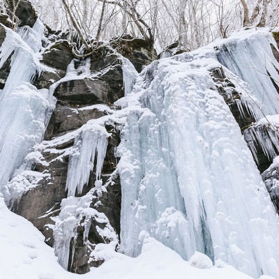
<svg viewBox="0 0 279 279">
<path fill-rule="evenodd" d="M 96 254 L 107 259 L 105 264 L 98 269 L 91 268 L 84 275 L 69 273 L 59 265 L 54 250 L 44 243 L 44 236 L 38 229 L 10 212 L 3 197 L 0 197 L 0 228 L 0 276 L 5 279 L 251 279 L 228 265 L 195 268 L 150 237 L 145 239 L 140 257 L 131 258 L 115 252 L 113 245 L 100 244 Z M 204 257 L 202 255 L 197 262 L 202 263 Z"/>
</svg>

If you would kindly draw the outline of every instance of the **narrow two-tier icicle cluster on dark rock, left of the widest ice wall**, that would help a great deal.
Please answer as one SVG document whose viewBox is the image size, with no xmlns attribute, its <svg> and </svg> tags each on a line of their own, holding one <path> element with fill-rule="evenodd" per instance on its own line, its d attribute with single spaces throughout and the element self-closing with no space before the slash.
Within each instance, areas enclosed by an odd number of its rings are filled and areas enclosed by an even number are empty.
<svg viewBox="0 0 279 279">
<path fill-rule="evenodd" d="M 59 216 L 52 218 L 54 225 L 50 225 L 54 233 L 55 253 L 64 269 L 68 269 L 69 256 L 74 255 L 78 227 L 81 225 L 84 227 L 83 240 L 86 243 L 92 219 L 104 225 L 103 228 L 96 225 L 96 230 L 104 241 L 118 241 L 105 214 L 91 208 L 94 193 L 103 186 L 100 175 L 107 151 L 107 137 L 110 136 L 105 128 L 96 122 L 98 121 L 89 121 L 74 132 L 75 144 L 70 150 L 66 181 L 68 197 L 62 200 L 61 212 Z M 96 167 L 95 187 L 86 195 L 75 197 L 75 193 L 82 194 L 83 187 L 89 183 L 89 176 L 94 167 Z M 71 241 L 74 241 L 72 246 L 70 246 Z M 70 263 L 73 263 L 73 259 L 70 259 Z"/>
</svg>

